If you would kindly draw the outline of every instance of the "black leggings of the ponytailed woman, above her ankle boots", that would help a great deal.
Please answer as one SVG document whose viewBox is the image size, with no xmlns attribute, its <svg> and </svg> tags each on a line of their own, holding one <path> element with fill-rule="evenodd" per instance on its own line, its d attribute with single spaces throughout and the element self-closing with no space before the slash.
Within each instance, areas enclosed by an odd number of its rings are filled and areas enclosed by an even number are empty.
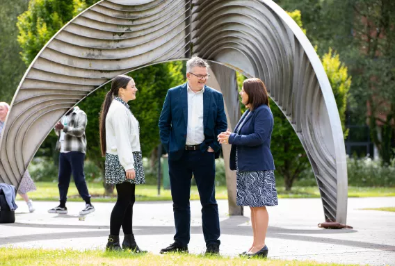
<svg viewBox="0 0 395 266">
<path fill-rule="evenodd" d="M 120 235 L 120 229 L 125 235 L 133 233 L 132 219 L 133 219 L 133 205 L 136 201 L 135 189 L 136 185 L 129 182 L 124 182 L 115 185 L 117 188 L 118 199 L 115 203 L 110 219 L 110 234 Z"/>
</svg>

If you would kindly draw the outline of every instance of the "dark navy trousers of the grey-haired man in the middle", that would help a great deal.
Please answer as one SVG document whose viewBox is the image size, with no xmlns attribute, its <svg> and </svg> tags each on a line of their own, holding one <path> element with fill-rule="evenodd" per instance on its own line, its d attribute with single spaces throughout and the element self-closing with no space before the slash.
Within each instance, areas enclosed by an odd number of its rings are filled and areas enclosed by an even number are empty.
<svg viewBox="0 0 395 266">
<path fill-rule="evenodd" d="M 220 222 L 216 201 L 214 153 L 184 151 L 179 160 L 169 158 L 170 187 L 175 219 L 175 242 L 186 246 L 191 238 L 191 178 L 195 178 L 202 203 L 202 225 L 206 246 L 220 244 Z"/>
</svg>

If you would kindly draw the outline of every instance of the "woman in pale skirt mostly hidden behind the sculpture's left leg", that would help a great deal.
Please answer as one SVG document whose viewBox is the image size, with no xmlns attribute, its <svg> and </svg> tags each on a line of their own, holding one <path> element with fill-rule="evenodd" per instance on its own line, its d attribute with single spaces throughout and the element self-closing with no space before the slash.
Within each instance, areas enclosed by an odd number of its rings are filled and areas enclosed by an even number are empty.
<svg viewBox="0 0 395 266">
<path fill-rule="evenodd" d="M 4 101 L 0 102 L 0 138 L 9 109 L 10 106 L 8 105 L 8 103 Z M 21 197 L 24 199 L 29 208 L 29 212 L 31 213 L 35 211 L 35 208 L 33 207 L 33 201 L 27 196 L 27 192 L 31 192 L 34 190 L 36 190 L 34 182 L 31 179 L 29 172 L 26 170 L 26 172 L 24 172 L 24 176 L 22 177 L 22 181 L 19 184 L 18 194 L 21 195 Z"/>
</svg>

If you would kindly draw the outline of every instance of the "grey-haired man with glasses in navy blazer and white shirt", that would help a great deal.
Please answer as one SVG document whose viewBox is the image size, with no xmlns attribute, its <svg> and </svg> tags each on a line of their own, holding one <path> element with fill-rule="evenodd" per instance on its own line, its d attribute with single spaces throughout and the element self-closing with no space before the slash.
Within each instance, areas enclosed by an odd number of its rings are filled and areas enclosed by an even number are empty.
<svg viewBox="0 0 395 266">
<path fill-rule="evenodd" d="M 206 86 L 207 63 L 193 57 L 186 63 L 188 82 L 168 90 L 159 131 L 169 155 L 170 187 L 176 233 L 161 253 L 188 251 L 191 238 L 192 174 L 202 203 L 206 253 L 219 253 L 220 223 L 215 197 L 215 158 L 220 154 L 217 135 L 227 129 L 223 95 Z"/>
</svg>

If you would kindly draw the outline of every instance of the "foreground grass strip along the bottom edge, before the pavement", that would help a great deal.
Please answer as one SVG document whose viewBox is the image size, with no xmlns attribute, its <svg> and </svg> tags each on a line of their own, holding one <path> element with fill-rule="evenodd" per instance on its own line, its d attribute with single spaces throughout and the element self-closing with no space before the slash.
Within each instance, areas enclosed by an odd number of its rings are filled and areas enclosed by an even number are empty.
<svg viewBox="0 0 395 266">
<path fill-rule="evenodd" d="M 153 255 L 128 252 L 106 252 L 99 250 L 74 251 L 70 249 L 19 249 L 0 248 L 0 265 L 287 265 L 287 266 L 323 266 L 339 265 L 335 263 L 316 263 L 298 260 L 263 260 L 247 258 L 229 258 L 223 256 L 169 254 Z"/>
</svg>

